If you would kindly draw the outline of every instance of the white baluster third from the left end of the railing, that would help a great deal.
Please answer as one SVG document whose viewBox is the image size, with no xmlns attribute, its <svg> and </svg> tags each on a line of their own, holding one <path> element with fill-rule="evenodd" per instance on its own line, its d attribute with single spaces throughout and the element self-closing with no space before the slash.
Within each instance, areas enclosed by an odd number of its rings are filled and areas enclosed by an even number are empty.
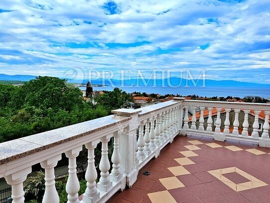
<svg viewBox="0 0 270 203">
<path fill-rule="evenodd" d="M 69 158 L 69 178 L 66 185 L 66 192 L 68 194 L 67 203 L 80 203 L 78 192 L 80 190 L 80 183 L 77 177 L 76 157 L 83 150 L 83 147 L 78 147 L 66 152 L 66 157 Z"/>
</svg>

